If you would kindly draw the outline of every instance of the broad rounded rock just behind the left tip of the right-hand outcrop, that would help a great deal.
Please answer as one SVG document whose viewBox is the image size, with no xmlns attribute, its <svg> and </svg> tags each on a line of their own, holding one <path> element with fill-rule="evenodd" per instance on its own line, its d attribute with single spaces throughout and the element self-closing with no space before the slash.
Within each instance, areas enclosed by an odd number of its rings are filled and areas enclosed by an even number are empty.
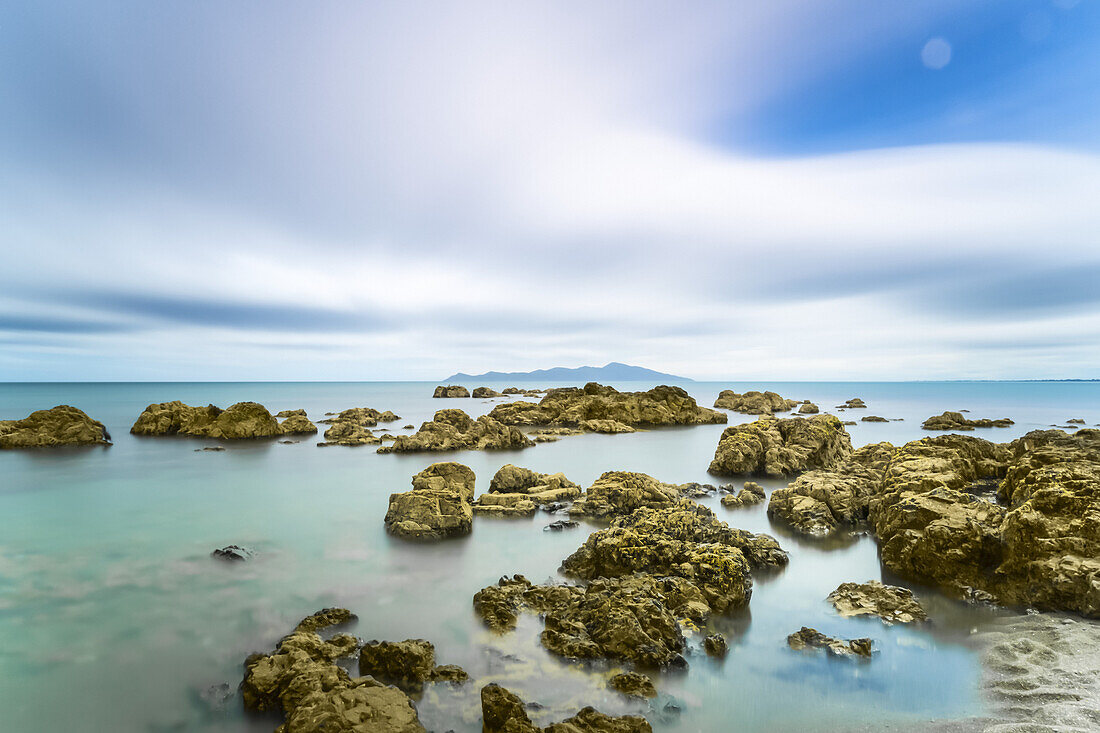
<svg viewBox="0 0 1100 733">
<path fill-rule="evenodd" d="M 832 468 L 851 453 L 851 438 L 833 415 L 762 417 L 727 427 L 718 439 L 708 471 L 718 475 L 788 475 Z"/>
</svg>

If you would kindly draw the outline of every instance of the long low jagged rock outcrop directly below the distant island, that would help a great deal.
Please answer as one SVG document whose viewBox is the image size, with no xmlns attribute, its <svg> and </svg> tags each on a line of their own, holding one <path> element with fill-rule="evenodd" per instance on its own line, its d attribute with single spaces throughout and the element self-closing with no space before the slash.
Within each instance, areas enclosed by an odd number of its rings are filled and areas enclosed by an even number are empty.
<svg viewBox="0 0 1100 733">
<path fill-rule="evenodd" d="M 588 420 L 613 420 L 629 427 L 649 425 L 702 425 L 725 423 L 723 413 L 700 407 L 675 386 L 648 392 L 618 392 L 590 382 L 583 389 L 550 390 L 537 405 L 513 402 L 497 405 L 490 417 L 505 425 L 581 427 Z M 604 423 L 593 425 L 603 426 Z"/>
</svg>

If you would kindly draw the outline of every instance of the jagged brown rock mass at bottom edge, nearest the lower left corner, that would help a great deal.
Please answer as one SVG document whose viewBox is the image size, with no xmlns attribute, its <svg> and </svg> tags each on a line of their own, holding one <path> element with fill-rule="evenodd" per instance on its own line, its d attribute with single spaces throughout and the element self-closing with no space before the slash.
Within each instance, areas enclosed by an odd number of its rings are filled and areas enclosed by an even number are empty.
<svg viewBox="0 0 1100 733">
<path fill-rule="evenodd" d="M 323 641 L 317 631 L 354 616 L 344 609 L 302 620 L 271 654 L 245 661 L 241 696 L 248 710 L 278 711 L 279 733 L 424 733 L 408 696 L 370 677 L 352 679 L 337 659 L 354 654 L 359 642 L 348 634 Z"/>
</svg>

